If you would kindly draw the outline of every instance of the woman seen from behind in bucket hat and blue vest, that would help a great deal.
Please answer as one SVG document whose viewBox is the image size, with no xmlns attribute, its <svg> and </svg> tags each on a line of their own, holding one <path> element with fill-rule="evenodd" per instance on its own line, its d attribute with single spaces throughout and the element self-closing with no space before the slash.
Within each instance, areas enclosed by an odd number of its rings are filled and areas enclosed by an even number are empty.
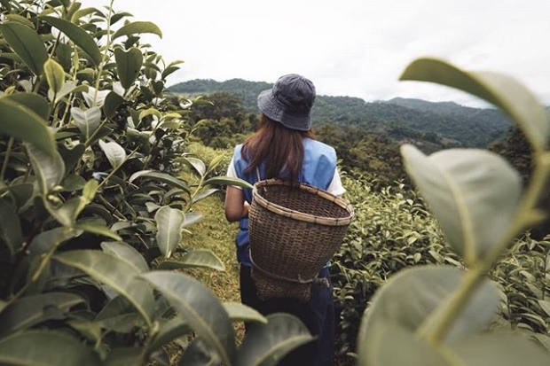
<svg viewBox="0 0 550 366">
<path fill-rule="evenodd" d="M 334 148 L 313 139 L 310 111 L 315 101 L 315 87 L 302 75 L 281 76 L 271 90 L 258 96 L 262 124 L 255 135 L 235 147 L 228 176 L 248 183 L 279 178 L 308 183 L 342 195 L 345 189 L 336 168 Z M 225 217 L 240 222 L 237 234 L 237 259 L 240 262 L 240 297 L 243 304 L 263 315 L 286 312 L 298 316 L 317 340 L 300 347 L 279 365 L 332 365 L 334 362 L 334 300 L 328 267 L 318 277 L 330 286 L 314 285 L 307 302 L 293 299 L 262 300 L 256 295 L 250 275 L 248 208 L 252 191 L 229 186 L 225 196 Z"/>
</svg>

